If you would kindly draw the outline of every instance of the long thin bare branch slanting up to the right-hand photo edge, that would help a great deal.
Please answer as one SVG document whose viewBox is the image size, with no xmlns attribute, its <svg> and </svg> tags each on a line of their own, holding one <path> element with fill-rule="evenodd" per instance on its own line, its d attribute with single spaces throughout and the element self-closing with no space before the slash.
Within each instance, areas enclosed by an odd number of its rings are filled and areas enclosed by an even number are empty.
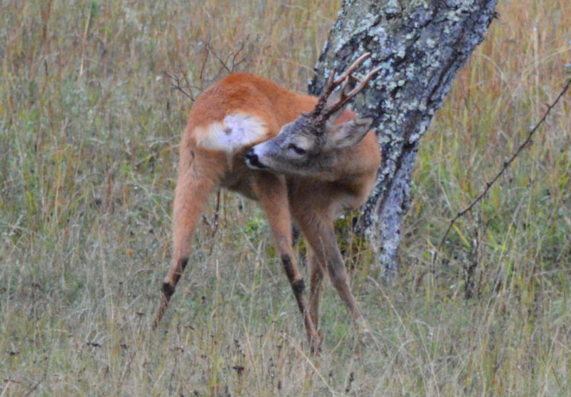
<svg viewBox="0 0 571 397">
<path fill-rule="evenodd" d="M 555 107 L 555 105 L 557 105 L 557 103 L 560 101 L 562 96 L 565 95 L 565 93 L 567 92 L 567 90 L 569 89 L 570 86 L 571 86 L 571 79 L 567 81 L 567 84 L 565 84 L 565 86 L 561 90 L 560 94 L 555 99 L 555 101 L 553 101 L 552 104 L 547 104 L 547 111 L 545 111 L 545 114 L 543 114 L 540 121 L 530 130 L 529 134 L 527 134 L 527 138 L 525 139 L 525 141 L 523 141 L 523 143 L 517 148 L 517 150 L 514 152 L 514 154 L 512 154 L 510 159 L 507 161 L 504 161 L 502 168 L 500 169 L 500 171 L 498 171 L 498 173 L 494 176 L 494 178 L 491 181 L 488 181 L 486 183 L 484 190 L 482 190 L 482 192 L 480 194 L 478 194 L 476 196 L 476 198 L 474 198 L 473 201 L 470 204 L 468 204 L 468 206 L 466 208 L 464 208 L 462 211 L 459 211 L 456 214 L 456 216 L 450 220 L 450 223 L 448 224 L 448 228 L 446 228 L 446 231 L 444 232 L 444 236 L 440 240 L 440 243 L 438 244 L 438 247 L 436 248 L 436 251 L 434 253 L 433 260 L 431 263 L 432 267 L 435 266 L 436 260 L 438 258 L 438 253 L 442 249 L 444 242 L 446 240 L 446 237 L 448 236 L 448 233 L 450 233 L 450 229 L 453 228 L 456 221 L 458 221 L 459 218 L 461 218 L 466 213 L 471 211 L 472 208 L 474 208 L 474 206 L 482 200 L 482 198 L 487 194 L 487 192 L 490 190 L 490 188 L 495 184 L 497 179 L 499 179 L 500 176 L 502 176 L 502 174 L 505 172 L 507 167 L 509 167 L 513 163 L 513 161 L 517 158 L 517 156 L 520 155 L 520 153 L 525 148 L 525 146 L 527 146 L 528 144 L 531 143 L 531 139 L 532 139 L 533 135 L 535 134 L 535 132 L 537 131 L 537 129 L 539 129 L 540 126 L 544 123 L 545 119 L 547 119 L 547 116 L 549 116 L 549 114 L 551 113 L 551 110 Z"/>
</svg>

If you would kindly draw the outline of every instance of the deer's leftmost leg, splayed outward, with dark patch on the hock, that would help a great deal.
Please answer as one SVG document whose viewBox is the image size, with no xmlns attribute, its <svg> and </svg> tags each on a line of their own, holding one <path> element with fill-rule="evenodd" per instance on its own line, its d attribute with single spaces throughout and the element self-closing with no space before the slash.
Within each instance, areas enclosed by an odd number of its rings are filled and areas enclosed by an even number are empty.
<svg viewBox="0 0 571 397">
<path fill-rule="evenodd" d="M 181 167 L 178 173 L 173 204 L 173 256 L 171 267 L 163 281 L 163 295 L 153 320 L 153 328 L 161 321 L 176 284 L 188 264 L 196 223 L 218 178 L 212 168 L 202 172 L 198 161 L 193 161 L 190 166 L 187 164 L 185 169 Z"/>
</svg>

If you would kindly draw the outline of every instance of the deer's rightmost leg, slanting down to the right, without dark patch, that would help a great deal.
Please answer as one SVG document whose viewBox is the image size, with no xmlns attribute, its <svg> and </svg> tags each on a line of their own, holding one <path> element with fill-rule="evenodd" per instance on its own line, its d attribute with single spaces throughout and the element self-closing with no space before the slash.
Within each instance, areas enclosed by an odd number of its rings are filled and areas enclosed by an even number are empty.
<svg viewBox="0 0 571 397">
<path fill-rule="evenodd" d="M 311 219 L 308 221 L 308 219 Z M 363 313 L 358 308 L 355 296 L 350 290 L 349 278 L 345 271 L 345 263 L 339 252 L 333 222 L 320 221 L 315 217 L 306 216 L 300 221 L 305 238 L 310 244 L 313 255 L 318 263 L 323 263 L 329 278 L 353 321 L 353 326 L 358 336 L 366 337 L 369 327 Z M 323 265 L 322 265 L 323 266 Z"/>
</svg>

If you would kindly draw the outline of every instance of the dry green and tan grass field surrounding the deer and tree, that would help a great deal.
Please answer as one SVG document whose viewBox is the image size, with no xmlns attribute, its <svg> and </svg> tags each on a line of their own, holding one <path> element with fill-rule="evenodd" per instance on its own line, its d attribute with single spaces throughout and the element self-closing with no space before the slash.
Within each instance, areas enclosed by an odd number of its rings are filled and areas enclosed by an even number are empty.
<svg viewBox="0 0 571 397">
<path fill-rule="evenodd" d="M 150 323 L 191 107 L 164 72 L 196 95 L 218 57 L 305 91 L 338 1 L 1 4 L 0 396 L 569 393 L 571 94 L 431 263 L 569 78 L 568 0 L 500 1 L 423 139 L 399 276 L 348 257 L 378 345 L 327 283 L 320 356 L 263 213 L 227 193 Z"/>
</svg>

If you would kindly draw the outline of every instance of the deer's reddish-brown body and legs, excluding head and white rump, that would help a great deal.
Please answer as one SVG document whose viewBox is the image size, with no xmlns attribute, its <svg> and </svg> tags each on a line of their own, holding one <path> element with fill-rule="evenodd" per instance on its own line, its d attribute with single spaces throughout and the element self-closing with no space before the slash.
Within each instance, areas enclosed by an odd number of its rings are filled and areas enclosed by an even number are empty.
<svg viewBox="0 0 571 397">
<path fill-rule="evenodd" d="M 335 241 L 333 221 L 343 211 L 363 203 L 375 183 L 380 154 L 373 132 L 369 132 L 356 146 L 345 149 L 343 156 L 335 159 L 327 173 L 312 178 L 286 177 L 249 169 L 243 161 L 243 154 L 248 148 L 237 151 L 228 159 L 226 153 L 199 146 L 201 134 L 208 134 L 208 126 L 215 121 L 223 121 L 228 114 L 250 114 L 263 121 L 267 129 L 267 136 L 261 139 L 264 141 L 276 136 L 284 124 L 295 120 L 301 112 L 313 109 L 316 101 L 313 96 L 295 94 L 250 74 L 231 74 L 206 89 L 196 100 L 181 141 L 173 208 L 173 258 L 163 283 L 163 300 L 155 326 L 190 257 L 193 232 L 203 203 L 216 186 L 223 186 L 259 201 L 266 211 L 312 348 L 319 343 L 318 297 L 325 272 L 329 273 L 355 327 L 359 331 L 366 328 L 349 290 L 345 266 Z M 339 124 L 354 118 L 355 114 L 346 110 L 336 122 Z M 311 247 L 310 306 L 303 298 L 303 278 L 293 253 L 293 222 L 308 238 Z"/>
</svg>

